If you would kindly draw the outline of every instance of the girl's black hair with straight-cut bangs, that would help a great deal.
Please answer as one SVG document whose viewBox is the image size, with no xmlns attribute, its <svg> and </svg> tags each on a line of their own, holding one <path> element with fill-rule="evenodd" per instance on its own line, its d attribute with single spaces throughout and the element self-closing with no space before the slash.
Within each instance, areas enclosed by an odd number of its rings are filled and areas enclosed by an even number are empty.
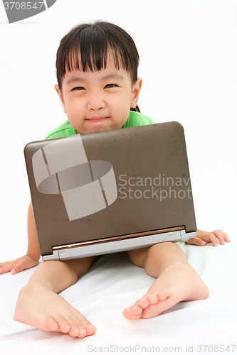
<svg viewBox="0 0 237 355">
<path fill-rule="evenodd" d="M 105 69 L 111 50 L 115 67 L 130 72 L 132 84 L 137 80 L 139 54 L 132 37 L 114 23 L 97 21 L 74 27 L 60 41 L 56 58 L 56 75 L 61 89 L 65 72 L 73 69 L 95 72 Z M 139 111 L 139 108 L 132 109 Z"/>
</svg>

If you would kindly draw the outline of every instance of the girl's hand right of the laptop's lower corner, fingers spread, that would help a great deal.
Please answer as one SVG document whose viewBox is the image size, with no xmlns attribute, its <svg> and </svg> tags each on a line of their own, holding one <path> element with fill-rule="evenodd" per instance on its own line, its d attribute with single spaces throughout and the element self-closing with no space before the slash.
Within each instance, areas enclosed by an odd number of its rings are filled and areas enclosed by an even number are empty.
<svg viewBox="0 0 237 355">
<path fill-rule="evenodd" d="M 211 243 L 214 246 L 217 246 L 217 239 L 220 241 L 220 244 L 225 244 L 225 242 L 231 241 L 231 239 L 228 238 L 228 235 L 224 232 L 221 231 L 221 229 L 218 229 L 218 231 L 200 231 L 199 229 L 197 230 L 197 236 L 195 238 L 190 238 L 188 241 L 186 241 L 186 244 L 192 244 L 192 245 L 198 245 L 198 246 L 205 246 L 206 243 Z"/>
</svg>

